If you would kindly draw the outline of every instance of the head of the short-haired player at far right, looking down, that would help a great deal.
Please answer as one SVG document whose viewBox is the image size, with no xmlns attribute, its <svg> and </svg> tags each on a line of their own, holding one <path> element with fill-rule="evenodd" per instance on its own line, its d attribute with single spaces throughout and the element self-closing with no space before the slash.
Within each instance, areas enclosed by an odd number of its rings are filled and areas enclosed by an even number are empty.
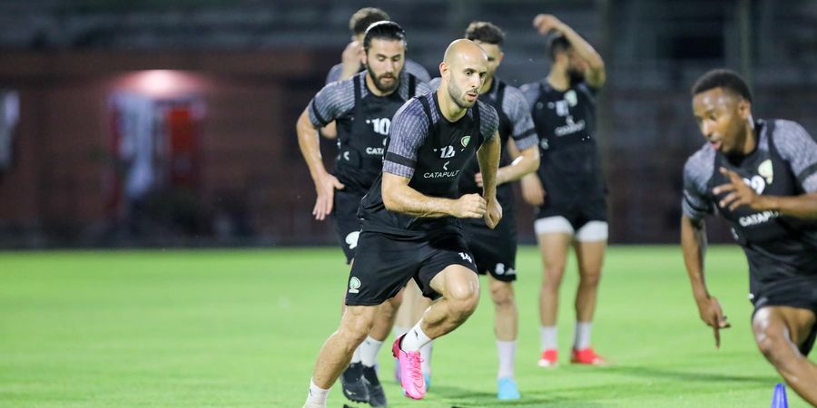
<svg viewBox="0 0 817 408">
<path fill-rule="evenodd" d="M 752 93 L 743 78 L 713 70 L 698 78 L 692 94 L 695 121 L 704 138 L 724 154 L 742 153 L 752 118 Z"/>
</svg>

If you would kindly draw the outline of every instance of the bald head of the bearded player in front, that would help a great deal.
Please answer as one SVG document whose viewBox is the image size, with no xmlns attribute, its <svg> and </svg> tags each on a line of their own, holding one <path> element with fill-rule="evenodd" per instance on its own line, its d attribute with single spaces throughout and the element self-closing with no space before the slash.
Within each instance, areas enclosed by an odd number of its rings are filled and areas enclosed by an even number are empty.
<svg viewBox="0 0 817 408">
<path fill-rule="evenodd" d="M 442 78 L 440 86 L 446 85 L 453 102 L 461 108 L 469 108 L 477 102 L 479 88 L 487 75 L 485 50 L 471 40 L 455 40 L 446 49 L 439 73 Z"/>
</svg>

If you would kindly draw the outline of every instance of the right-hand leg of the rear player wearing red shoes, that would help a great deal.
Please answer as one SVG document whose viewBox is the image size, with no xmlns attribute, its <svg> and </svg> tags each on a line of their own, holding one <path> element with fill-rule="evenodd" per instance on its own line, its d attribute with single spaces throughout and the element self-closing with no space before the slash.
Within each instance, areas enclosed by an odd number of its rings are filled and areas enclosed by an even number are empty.
<svg viewBox="0 0 817 408">
<path fill-rule="evenodd" d="M 598 283 L 607 248 L 607 223 L 589 221 L 576 232 L 576 261 L 579 284 L 576 289 L 576 333 L 571 361 L 578 364 L 604 364 L 590 345 L 593 316 L 596 312 Z"/>
</svg>

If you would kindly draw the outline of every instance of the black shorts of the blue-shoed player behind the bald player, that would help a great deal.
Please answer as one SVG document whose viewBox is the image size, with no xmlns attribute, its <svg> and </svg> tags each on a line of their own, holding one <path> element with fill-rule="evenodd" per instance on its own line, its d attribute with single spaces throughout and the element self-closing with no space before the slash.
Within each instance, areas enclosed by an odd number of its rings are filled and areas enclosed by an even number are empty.
<svg viewBox="0 0 817 408">
<path fill-rule="evenodd" d="M 497 228 L 487 228 L 482 219 L 463 219 L 468 248 L 477 263 L 477 273 L 503 282 L 517 280 L 517 220 L 513 212 L 504 214 Z"/>
</svg>

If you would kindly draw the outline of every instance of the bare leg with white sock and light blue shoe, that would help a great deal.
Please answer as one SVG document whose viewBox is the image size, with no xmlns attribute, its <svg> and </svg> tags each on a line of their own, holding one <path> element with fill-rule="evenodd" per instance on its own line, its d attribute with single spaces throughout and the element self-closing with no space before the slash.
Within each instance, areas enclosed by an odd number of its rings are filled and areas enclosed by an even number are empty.
<svg viewBox="0 0 817 408">
<path fill-rule="evenodd" d="M 502 281 L 488 275 L 488 287 L 494 302 L 494 333 L 497 335 L 497 398 L 501 400 L 519 399 L 515 381 L 515 360 L 517 355 L 517 300 L 514 296 L 513 281 Z"/>
</svg>

